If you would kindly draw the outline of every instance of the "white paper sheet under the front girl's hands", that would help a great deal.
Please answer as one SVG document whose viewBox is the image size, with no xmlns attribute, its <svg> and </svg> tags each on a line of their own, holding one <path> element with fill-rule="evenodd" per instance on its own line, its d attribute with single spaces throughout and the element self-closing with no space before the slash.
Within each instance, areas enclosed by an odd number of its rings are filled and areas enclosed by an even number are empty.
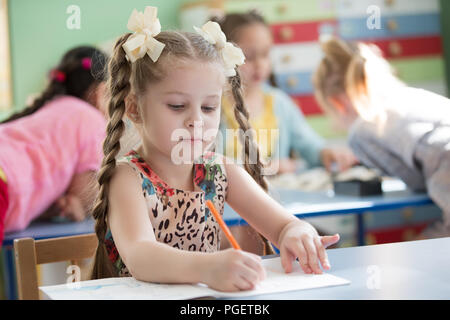
<svg viewBox="0 0 450 320">
<path fill-rule="evenodd" d="M 246 297 L 268 293 L 313 289 L 349 284 L 350 281 L 329 273 L 304 274 L 298 263 L 286 274 L 280 258 L 264 259 L 266 279 L 257 288 L 240 292 L 220 292 L 205 285 L 156 284 L 138 281 L 132 277 L 107 278 L 78 283 L 45 286 L 39 289 L 54 300 L 179 300 L 200 297 Z"/>
</svg>

